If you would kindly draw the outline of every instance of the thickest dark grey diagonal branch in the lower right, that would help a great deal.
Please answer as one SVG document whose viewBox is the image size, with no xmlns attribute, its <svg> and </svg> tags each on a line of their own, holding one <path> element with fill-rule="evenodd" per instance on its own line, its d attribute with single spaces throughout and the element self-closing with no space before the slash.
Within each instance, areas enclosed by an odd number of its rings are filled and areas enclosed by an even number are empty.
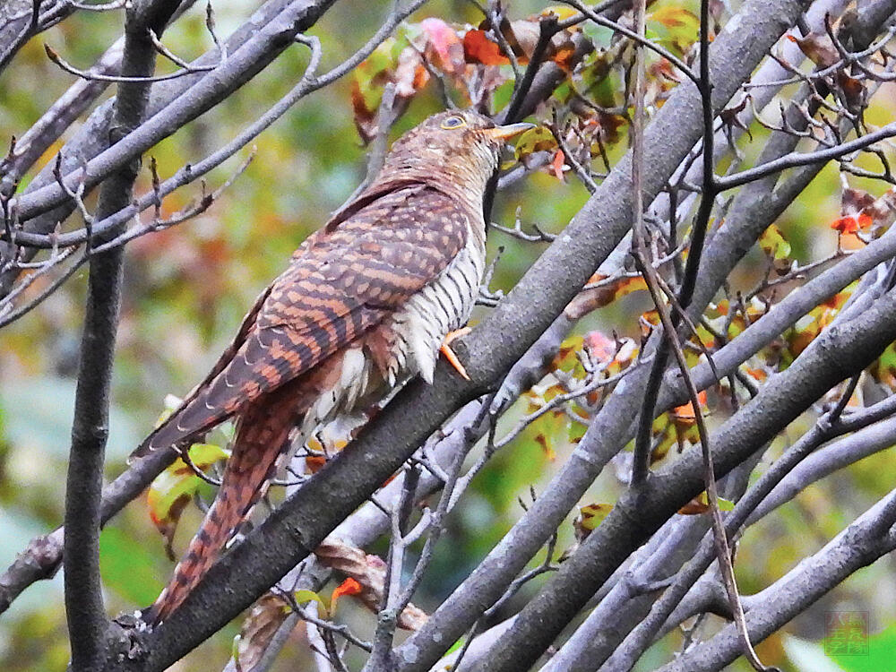
<svg viewBox="0 0 896 672">
<path fill-rule="evenodd" d="M 831 326 L 794 364 L 772 377 L 753 401 L 719 428 L 714 439 L 716 473 L 728 473 L 832 385 L 873 361 L 896 337 L 894 309 L 896 293 L 891 291 L 855 320 Z M 882 331 L 872 335 L 868 329 Z M 703 487 L 700 451 L 691 449 L 648 479 L 643 492 L 623 495 L 598 529 L 521 610 L 487 661 L 475 668 L 477 672 L 532 665 L 616 567 Z"/>
</svg>

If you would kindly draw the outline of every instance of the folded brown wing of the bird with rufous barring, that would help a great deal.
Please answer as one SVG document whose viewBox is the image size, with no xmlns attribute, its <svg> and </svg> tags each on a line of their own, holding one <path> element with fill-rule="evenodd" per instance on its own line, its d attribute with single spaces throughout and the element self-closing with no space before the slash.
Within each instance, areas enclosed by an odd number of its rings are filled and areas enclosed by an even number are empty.
<svg viewBox="0 0 896 672">
<path fill-rule="evenodd" d="M 208 431 L 356 340 L 444 271 L 468 221 L 452 198 L 409 185 L 316 232 L 247 318 L 228 360 L 134 454 Z"/>
</svg>

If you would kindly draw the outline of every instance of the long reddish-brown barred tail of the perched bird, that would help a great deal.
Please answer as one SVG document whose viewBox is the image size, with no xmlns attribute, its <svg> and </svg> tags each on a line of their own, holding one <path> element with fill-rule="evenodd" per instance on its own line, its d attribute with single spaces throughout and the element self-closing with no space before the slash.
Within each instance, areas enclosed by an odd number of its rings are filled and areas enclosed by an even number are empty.
<svg viewBox="0 0 896 672">
<path fill-rule="evenodd" d="M 250 513 L 273 478 L 277 461 L 304 409 L 294 385 L 263 394 L 240 415 L 237 438 L 221 478 L 218 496 L 202 521 L 168 587 L 144 611 L 152 625 L 164 621 L 193 590 L 237 526 Z"/>
</svg>

